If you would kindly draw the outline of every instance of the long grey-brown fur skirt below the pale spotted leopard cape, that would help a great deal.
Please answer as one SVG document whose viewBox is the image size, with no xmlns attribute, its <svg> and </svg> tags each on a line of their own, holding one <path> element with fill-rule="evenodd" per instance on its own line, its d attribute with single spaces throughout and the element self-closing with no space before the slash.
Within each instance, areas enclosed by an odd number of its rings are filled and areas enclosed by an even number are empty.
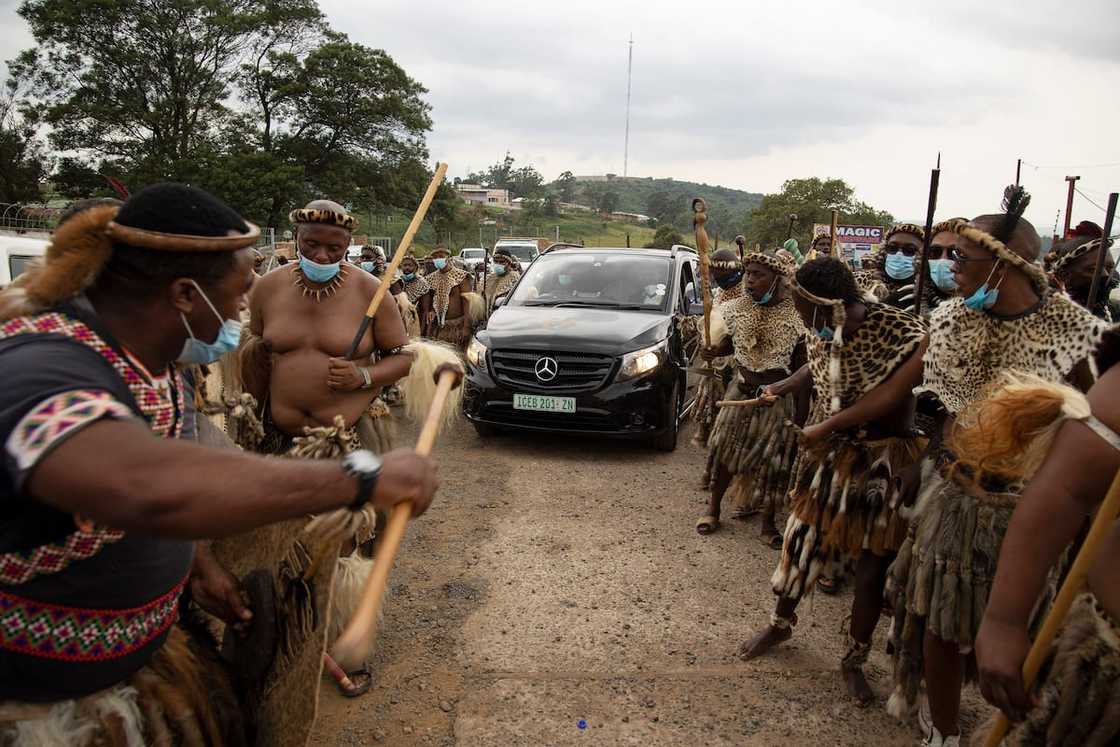
<svg viewBox="0 0 1120 747">
<path fill-rule="evenodd" d="M 962 654 L 972 652 L 1017 501 L 1017 493 L 984 492 L 950 477 L 944 465 L 923 464 L 909 534 L 887 580 L 895 607 L 895 691 L 887 708 L 895 716 L 905 718 L 917 707 L 926 631 Z M 968 670 L 971 680 L 974 666 Z"/>
</svg>

